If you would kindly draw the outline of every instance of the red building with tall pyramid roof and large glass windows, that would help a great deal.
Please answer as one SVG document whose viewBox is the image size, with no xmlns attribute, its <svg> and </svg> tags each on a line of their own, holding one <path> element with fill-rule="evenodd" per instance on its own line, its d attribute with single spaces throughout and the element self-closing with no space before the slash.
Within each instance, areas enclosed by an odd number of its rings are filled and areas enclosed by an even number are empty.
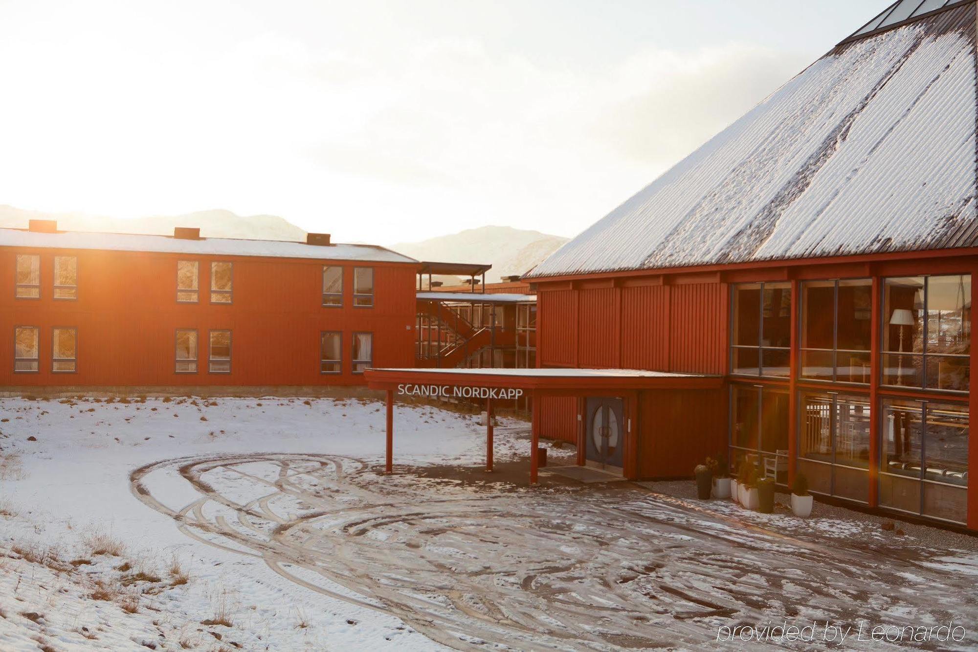
<svg viewBox="0 0 978 652">
<path fill-rule="evenodd" d="M 525 277 L 541 366 L 723 377 L 645 393 L 637 477 L 727 453 L 978 529 L 975 16 L 894 3 Z M 542 403 L 543 436 L 606 426 Z"/>
</svg>

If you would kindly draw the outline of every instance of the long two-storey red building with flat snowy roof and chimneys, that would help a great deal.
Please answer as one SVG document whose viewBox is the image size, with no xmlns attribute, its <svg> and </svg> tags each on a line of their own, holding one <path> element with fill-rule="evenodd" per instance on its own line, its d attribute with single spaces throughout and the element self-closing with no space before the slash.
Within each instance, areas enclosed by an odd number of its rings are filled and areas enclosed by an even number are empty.
<svg viewBox="0 0 978 652">
<path fill-rule="evenodd" d="M 418 261 L 368 245 L 0 229 L 0 384 L 132 393 L 363 385 L 415 361 Z M 305 389 L 303 389 L 305 388 Z"/>
</svg>

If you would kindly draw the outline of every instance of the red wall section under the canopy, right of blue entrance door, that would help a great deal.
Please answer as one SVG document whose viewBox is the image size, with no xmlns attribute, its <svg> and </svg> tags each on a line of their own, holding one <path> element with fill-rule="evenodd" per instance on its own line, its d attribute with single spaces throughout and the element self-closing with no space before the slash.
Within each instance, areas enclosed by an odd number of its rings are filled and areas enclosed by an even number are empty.
<svg viewBox="0 0 978 652">
<path fill-rule="evenodd" d="M 727 450 L 727 392 L 643 392 L 639 401 L 640 478 L 692 477 L 707 455 Z"/>
</svg>

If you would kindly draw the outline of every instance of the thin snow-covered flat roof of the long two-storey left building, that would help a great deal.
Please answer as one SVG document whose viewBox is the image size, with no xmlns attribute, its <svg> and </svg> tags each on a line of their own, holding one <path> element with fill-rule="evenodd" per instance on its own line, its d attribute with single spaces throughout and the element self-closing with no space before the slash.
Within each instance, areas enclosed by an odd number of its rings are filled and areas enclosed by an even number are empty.
<svg viewBox="0 0 978 652">
<path fill-rule="evenodd" d="M 374 245 L 307 245 L 278 240 L 238 240 L 200 238 L 189 240 L 131 233 L 90 233 L 66 231 L 43 233 L 0 228 L 0 247 L 97 249 L 120 252 L 160 252 L 192 256 L 268 256 L 316 258 L 322 260 L 363 260 L 367 262 L 414 262 L 389 249 Z"/>
</svg>

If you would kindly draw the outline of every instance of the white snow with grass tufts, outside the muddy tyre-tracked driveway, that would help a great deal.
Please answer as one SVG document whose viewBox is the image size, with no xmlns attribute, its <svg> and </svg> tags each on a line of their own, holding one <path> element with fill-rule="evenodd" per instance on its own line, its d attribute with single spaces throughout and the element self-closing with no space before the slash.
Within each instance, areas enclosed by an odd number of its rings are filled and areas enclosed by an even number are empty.
<svg viewBox="0 0 978 652">
<path fill-rule="evenodd" d="M 320 650 L 440 646 L 394 616 L 357 607 L 296 583 L 260 557 L 221 550 L 180 532 L 134 497 L 130 473 L 160 460 L 275 451 L 383 457 L 382 403 L 360 399 L 131 398 L 0 399 L 0 650 L 195 649 Z M 521 422 L 503 425 L 521 429 Z M 477 463 L 477 418 L 398 405 L 395 463 Z M 525 429 L 525 428 L 523 428 Z M 496 456 L 528 442 L 497 430 Z M 520 450 L 522 448 L 522 450 Z M 179 487 L 161 497 L 182 499 Z M 180 505 L 181 507 L 183 505 Z M 118 557 L 93 555 L 86 539 L 118 541 Z M 14 548 L 51 553 L 34 563 Z M 186 584 L 172 585 L 176 558 Z M 87 560 L 77 567 L 67 562 Z M 128 562 L 133 571 L 113 569 Z M 130 586 L 142 570 L 160 582 Z M 111 600 L 86 599 L 99 583 Z M 138 595 L 135 614 L 122 611 Z M 232 627 L 207 626 L 221 610 Z M 28 614 L 29 616 L 23 616 Z M 33 614 L 40 616 L 36 622 Z M 221 636 L 218 640 L 214 631 Z M 41 641 L 41 642 L 39 642 Z"/>
</svg>

